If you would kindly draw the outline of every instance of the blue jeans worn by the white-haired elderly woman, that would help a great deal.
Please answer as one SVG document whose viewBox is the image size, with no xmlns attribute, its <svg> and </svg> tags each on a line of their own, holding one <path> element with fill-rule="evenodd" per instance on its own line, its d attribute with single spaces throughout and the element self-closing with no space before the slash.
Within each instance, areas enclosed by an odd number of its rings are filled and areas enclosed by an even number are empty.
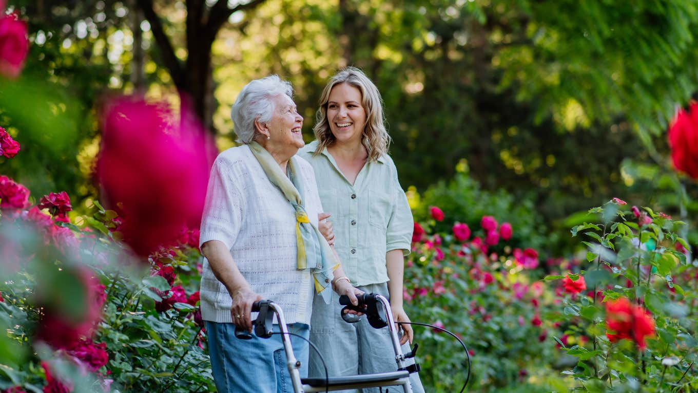
<svg viewBox="0 0 698 393">
<path fill-rule="evenodd" d="M 279 325 L 274 324 L 274 331 Z M 235 325 L 206 321 L 211 355 L 211 371 L 221 393 L 292 393 L 293 383 L 286 366 L 281 334 L 250 340 L 235 337 Z M 310 327 L 304 323 L 288 324 L 288 332 L 309 338 Z M 301 362 L 301 378 L 308 376 L 309 345 L 291 336 L 295 357 Z"/>
</svg>

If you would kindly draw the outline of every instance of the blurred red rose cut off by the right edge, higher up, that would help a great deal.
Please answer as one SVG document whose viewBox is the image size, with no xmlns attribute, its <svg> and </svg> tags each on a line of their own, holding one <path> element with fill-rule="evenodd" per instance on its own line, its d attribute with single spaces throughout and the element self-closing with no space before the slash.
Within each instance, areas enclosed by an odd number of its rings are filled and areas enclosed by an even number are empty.
<svg viewBox="0 0 698 393">
<path fill-rule="evenodd" d="M 669 125 L 671 161 L 679 171 L 698 179 L 698 102 L 693 102 L 688 112 L 681 109 Z"/>
</svg>

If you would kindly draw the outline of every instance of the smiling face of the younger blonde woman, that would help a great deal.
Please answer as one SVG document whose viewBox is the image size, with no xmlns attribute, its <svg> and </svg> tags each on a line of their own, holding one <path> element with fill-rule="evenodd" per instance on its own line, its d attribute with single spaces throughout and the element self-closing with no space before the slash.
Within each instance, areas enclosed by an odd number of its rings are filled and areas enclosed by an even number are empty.
<svg viewBox="0 0 698 393">
<path fill-rule="evenodd" d="M 327 122 L 338 144 L 361 144 L 366 110 L 361 91 L 348 83 L 332 87 L 327 101 Z"/>
</svg>

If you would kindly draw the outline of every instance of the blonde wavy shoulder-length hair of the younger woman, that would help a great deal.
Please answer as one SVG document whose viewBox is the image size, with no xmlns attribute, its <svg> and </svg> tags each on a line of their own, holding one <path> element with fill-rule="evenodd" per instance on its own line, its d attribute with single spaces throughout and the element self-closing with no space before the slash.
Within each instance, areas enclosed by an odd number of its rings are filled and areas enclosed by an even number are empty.
<svg viewBox="0 0 698 393">
<path fill-rule="evenodd" d="M 315 139 L 318 140 L 318 147 L 315 148 L 313 156 L 319 155 L 322 150 L 336 141 L 332 130 L 329 129 L 327 102 L 332 87 L 341 83 L 356 87 L 361 92 L 361 104 L 366 110 L 366 125 L 362 133 L 362 143 L 366 151 L 369 152 L 369 162 L 376 161 L 378 157 L 387 154 L 390 145 L 390 136 L 385 129 L 385 117 L 383 116 L 383 99 L 380 98 L 378 87 L 371 82 L 366 74 L 352 66 L 336 73 L 325 86 L 325 90 L 322 90 L 320 108 L 315 113 L 315 127 L 313 127 Z"/>
</svg>

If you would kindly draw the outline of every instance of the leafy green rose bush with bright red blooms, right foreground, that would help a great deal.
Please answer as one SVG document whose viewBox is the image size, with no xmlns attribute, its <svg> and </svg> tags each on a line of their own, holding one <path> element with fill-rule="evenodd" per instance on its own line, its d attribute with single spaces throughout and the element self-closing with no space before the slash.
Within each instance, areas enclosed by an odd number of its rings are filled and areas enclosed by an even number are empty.
<svg viewBox="0 0 698 393">
<path fill-rule="evenodd" d="M 636 391 L 640 385 L 646 392 L 690 391 L 698 383 L 692 369 L 698 356 L 698 263 L 678 250 L 686 244 L 677 235 L 685 223 L 650 208 L 631 213 L 624 207 L 609 202 L 593 208 L 602 220 L 572 229 L 588 247 L 579 276 L 593 296 L 566 299 L 562 312 L 549 315 L 567 331 L 588 337 L 586 345 L 565 348 L 578 362 L 564 373 L 577 381 L 577 390 L 587 392 Z M 618 325 L 610 322 L 618 319 L 608 306 L 612 299 L 630 299 L 638 305 L 631 307 L 641 310 L 628 315 L 630 320 L 624 317 L 632 326 L 630 339 L 609 336 L 622 334 L 610 327 Z M 651 332 L 641 330 L 648 326 L 644 310 Z"/>
</svg>

